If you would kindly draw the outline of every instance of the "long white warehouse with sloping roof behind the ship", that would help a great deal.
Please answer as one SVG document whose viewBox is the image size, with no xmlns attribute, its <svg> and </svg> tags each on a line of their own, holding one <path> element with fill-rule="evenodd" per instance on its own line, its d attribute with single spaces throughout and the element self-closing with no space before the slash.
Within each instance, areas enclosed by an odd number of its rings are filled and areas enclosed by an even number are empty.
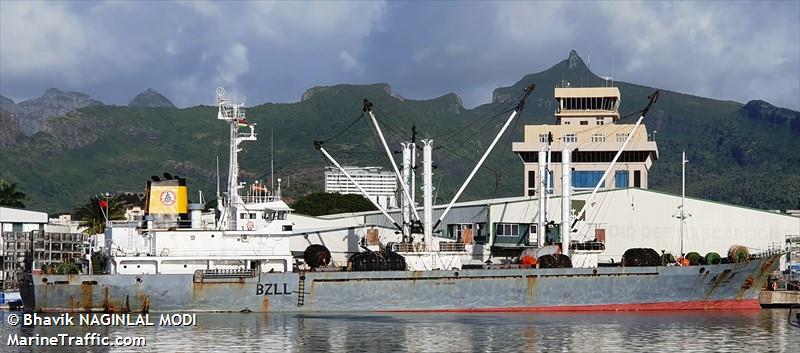
<svg viewBox="0 0 800 353">
<path fill-rule="evenodd" d="M 573 214 L 583 207 L 589 194 L 572 195 Z M 649 189 L 600 191 L 587 207 L 572 240 L 590 241 L 603 235 L 605 251 L 599 255 L 600 263 L 619 262 L 625 250 L 639 247 L 659 253 L 663 250 L 677 257 L 681 252 L 681 232 L 680 220 L 675 215 L 680 203 L 680 195 Z M 551 197 L 548 204 L 547 219 L 558 226 L 562 214 L 560 197 Z M 684 253 L 696 251 L 705 255 L 713 251 L 724 257 L 734 244 L 746 246 L 751 252 L 765 251 L 785 246 L 787 235 L 800 234 L 800 217 L 691 197 L 686 198 L 685 204 L 691 216 L 685 223 Z M 434 219 L 438 219 L 444 208 L 444 205 L 434 206 Z M 399 211 L 390 214 L 400 221 Z M 442 221 L 438 235 L 459 242 L 463 240 L 460 237 L 463 230 L 470 229 L 476 247 L 491 248 L 493 253 L 503 250 L 513 253 L 536 245 L 538 217 L 536 196 L 461 202 Z M 396 239 L 392 223 L 378 211 L 322 218 L 350 222 L 357 228 L 376 225 L 382 240 Z"/>
</svg>

